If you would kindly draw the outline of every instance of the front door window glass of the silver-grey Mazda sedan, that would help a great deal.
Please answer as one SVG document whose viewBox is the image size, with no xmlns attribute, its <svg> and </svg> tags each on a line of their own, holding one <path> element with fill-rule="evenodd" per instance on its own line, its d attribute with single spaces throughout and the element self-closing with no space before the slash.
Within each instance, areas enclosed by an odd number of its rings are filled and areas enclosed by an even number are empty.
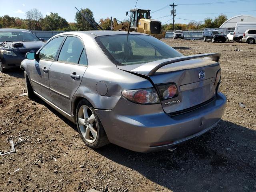
<svg viewBox="0 0 256 192">
<path fill-rule="evenodd" d="M 42 60 L 54 60 L 58 48 L 62 43 L 64 36 L 57 37 L 48 42 L 39 52 L 39 58 Z"/>
</svg>

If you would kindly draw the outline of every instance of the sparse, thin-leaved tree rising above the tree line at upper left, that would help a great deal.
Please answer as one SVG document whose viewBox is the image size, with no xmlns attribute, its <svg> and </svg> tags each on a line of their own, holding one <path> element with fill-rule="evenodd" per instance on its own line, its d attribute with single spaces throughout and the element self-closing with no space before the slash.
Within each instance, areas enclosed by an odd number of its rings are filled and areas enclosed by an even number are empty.
<svg viewBox="0 0 256 192">
<path fill-rule="evenodd" d="M 30 30 L 41 30 L 42 29 L 42 20 L 43 15 L 42 13 L 34 8 L 25 13 L 27 25 Z"/>
</svg>

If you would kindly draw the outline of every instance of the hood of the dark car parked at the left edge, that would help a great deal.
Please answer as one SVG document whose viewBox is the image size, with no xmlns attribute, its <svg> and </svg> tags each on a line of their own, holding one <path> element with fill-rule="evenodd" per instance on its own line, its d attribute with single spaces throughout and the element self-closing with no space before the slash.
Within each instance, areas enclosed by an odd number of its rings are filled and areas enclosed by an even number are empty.
<svg viewBox="0 0 256 192">
<path fill-rule="evenodd" d="M 12 45 L 15 43 L 22 43 L 23 46 L 13 47 Z M 2 44 L 2 48 L 5 50 L 38 50 L 43 44 L 44 42 L 42 41 L 6 42 L 5 44 Z"/>
</svg>

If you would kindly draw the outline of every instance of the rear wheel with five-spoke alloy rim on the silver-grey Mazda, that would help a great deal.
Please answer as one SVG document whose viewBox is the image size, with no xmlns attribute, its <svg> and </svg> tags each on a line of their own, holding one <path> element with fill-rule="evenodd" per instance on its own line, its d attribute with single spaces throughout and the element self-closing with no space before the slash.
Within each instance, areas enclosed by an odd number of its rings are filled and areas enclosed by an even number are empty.
<svg viewBox="0 0 256 192">
<path fill-rule="evenodd" d="M 96 149 L 109 143 L 100 119 L 85 99 L 76 107 L 76 125 L 80 137 L 88 147 Z"/>
</svg>

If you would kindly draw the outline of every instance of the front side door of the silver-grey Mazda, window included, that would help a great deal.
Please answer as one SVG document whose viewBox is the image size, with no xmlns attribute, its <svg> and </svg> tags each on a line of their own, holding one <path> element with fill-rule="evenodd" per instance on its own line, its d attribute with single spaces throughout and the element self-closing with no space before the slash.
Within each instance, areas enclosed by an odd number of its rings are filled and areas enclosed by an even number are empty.
<svg viewBox="0 0 256 192">
<path fill-rule="evenodd" d="M 30 80 L 34 91 L 48 101 L 52 101 L 49 86 L 49 68 L 63 40 L 64 36 L 59 36 L 47 42 L 29 66 Z"/>
</svg>

